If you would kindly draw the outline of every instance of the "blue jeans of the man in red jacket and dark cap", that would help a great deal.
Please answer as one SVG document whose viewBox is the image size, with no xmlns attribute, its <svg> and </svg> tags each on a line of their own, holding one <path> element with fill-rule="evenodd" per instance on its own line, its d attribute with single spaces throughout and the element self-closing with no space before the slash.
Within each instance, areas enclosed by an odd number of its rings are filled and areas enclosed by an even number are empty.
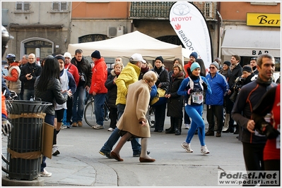
<svg viewBox="0 0 282 188">
<path fill-rule="evenodd" d="M 104 103 L 106 99 L 106 94 L 96 94 L 94 96 L 94 110 L 96 116 L 96 123 L 98 125 L 104 125 Z M 106 109 L 105 109 L 106 110 Z"/>
</svg>

